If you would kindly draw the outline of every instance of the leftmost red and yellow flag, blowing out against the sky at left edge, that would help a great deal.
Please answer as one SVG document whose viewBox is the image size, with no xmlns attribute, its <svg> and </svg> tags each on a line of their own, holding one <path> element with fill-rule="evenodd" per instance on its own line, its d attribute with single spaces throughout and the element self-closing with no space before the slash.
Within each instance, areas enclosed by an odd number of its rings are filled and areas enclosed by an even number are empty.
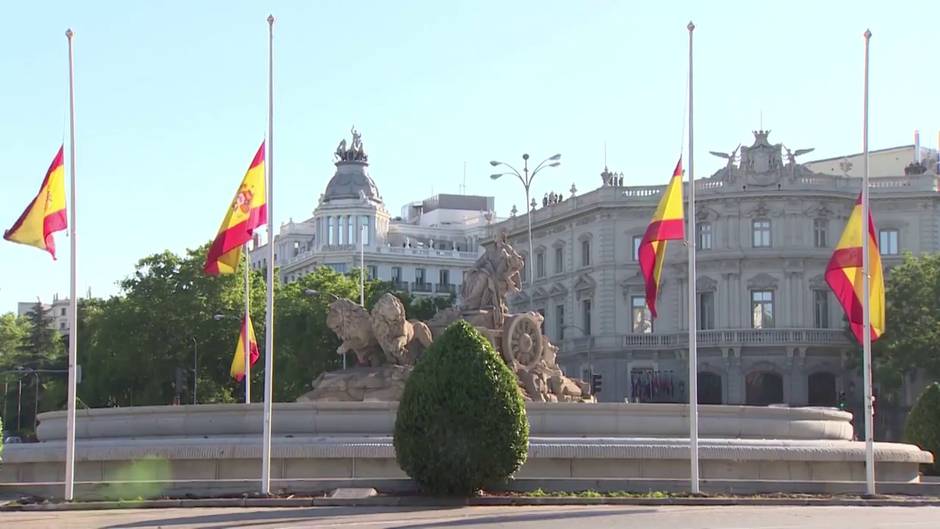
<svg viewBox="0 0 940 529">
<path fill-rule="evenodd" d="M 52 234 L 68 227 L 65 213 L 65 166 L 62 159 L 62 147 L 59 147 L 36 198 L 13 227 L 3 232 L 4 239 L 46 250 L 53 259 L 55 240 Z"/>
</svg>

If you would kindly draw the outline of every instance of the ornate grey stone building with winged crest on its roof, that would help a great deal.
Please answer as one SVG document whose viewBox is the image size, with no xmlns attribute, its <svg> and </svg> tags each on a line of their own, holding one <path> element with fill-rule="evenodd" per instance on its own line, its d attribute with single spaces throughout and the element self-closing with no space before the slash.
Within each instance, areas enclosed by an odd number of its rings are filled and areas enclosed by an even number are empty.
<svg viewBox="0 0 940 529">
<path fill-rule="evenodd" d="M 754 137 L 713 153 L 727 165 L 695 182 L 699 401 L 835 405 L 844 392 L 860 403 L 860 349 L 823 279 L 860 179 L 808 169 L 797 157 L 811 149 L 771 143 L 769 131 Z M 602 375 L 601 401 L 686 401 L 687 249 L 669 246 L 653 321 L 636 251 L 664 185 L 625 187 L 610 174 L 533 212 L 535 255 L 524 257 L 535 280 L 511 308 L 545 316 L 568 372 Z M 940 251 L 933 168 L 871 185 L 886 267 L 904 251 Z M 524 216 L 494 228 L 526 253 Z"/>
</svg>

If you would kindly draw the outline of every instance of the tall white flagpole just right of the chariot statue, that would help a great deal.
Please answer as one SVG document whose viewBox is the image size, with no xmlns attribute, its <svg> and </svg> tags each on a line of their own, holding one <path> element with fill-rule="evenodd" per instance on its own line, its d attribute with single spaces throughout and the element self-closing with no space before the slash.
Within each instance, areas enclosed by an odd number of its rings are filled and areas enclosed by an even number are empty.
<svg viewBox="0 0 940 529">
<path fill-rule="evenodd" d="M 699 494 L 698 475 L 698 344 L 696 343 L 697 325 L 695 324 L 695 164 L 692 150 L 692 31 L 695 24 L 691 21 L 689 29 L 689 230 L 686 239 L 689 242 L 689 465 L 692 494 Z"/>
</svg>

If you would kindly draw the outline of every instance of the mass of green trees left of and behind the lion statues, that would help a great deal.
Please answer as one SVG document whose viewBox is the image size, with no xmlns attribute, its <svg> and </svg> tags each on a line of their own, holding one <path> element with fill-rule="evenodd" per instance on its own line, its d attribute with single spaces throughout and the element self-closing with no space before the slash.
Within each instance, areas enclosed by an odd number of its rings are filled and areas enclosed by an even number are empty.
<svg viewBox="0 0 940 529">
<path fill-rule="evenodd" d="M 164 251 L 147 256 L 120 282 L 117 295 L 79 301 L 80 406 L 191 403 L 194 368 L 197 402 L 243 400 L 244 386 L 229 375 L 229 367 L 244 314 L 244 270 L 206 276 L 202 265 L 207 248 L 204 245 L 184 255 Z M 252 270 L 250 275 L 251 318 L 262 353 L 251 372 L 252 400 L 258 401 L 264 381 L 265 279 L 260 271 Z M 394 292 L 391 283 L 366 281 L 366 308 L 385 292 Z M 454 301 L 453 296 L 425 300 L 396 295 L 409 318 L 430 318 Z M 339 340 L 326 326 L 333 296 L 358 301 L 359 271 L 344 275 L 321 267 L 294 283 L 276 282 L 275 400 L 296 399 L 311 389 L 321 372 L 342 366 L 336 354 Z M 64 340 L 51 329 L 48 318 L 41 307 L 25 317 L 0 316 L 0 371 L 67 367 Z M 350 355 L 349 361 L 355 362 L 355 357 Z M 26 377 L 21 378 L 27 383 Z M 40 411 L 62 408 L 65 376 L 39 380 Z M 14 422 L 10 412 L 15 416 L 15 387 L 8 390 L 8 400 L 10 395 L 14 404 L 3 414 L 7 427 Z M 33 424 L 32 400 L 24 400 L 22 408 L 25 430 Z"/>
</svg>

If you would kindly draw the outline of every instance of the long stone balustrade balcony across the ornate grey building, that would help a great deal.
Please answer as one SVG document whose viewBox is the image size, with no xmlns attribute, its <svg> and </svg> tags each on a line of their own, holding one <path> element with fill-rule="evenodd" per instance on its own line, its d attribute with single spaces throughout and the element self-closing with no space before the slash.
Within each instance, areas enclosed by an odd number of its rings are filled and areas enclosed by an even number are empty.
<svg viewBox="0 0 940 529">
<path fill-rule="evenodd" d="M 699 347 L 742 347 L 755 345 L 812 346 L 852 345 L 842 329 L 720 329 L 698 331 Z M 689 346 L 689 333 L 625 334 L 621 336 L 588 336 L 566 339 L 566 353 L 595 350 L 658 350 L 684 349 Z"/>
</svg>

